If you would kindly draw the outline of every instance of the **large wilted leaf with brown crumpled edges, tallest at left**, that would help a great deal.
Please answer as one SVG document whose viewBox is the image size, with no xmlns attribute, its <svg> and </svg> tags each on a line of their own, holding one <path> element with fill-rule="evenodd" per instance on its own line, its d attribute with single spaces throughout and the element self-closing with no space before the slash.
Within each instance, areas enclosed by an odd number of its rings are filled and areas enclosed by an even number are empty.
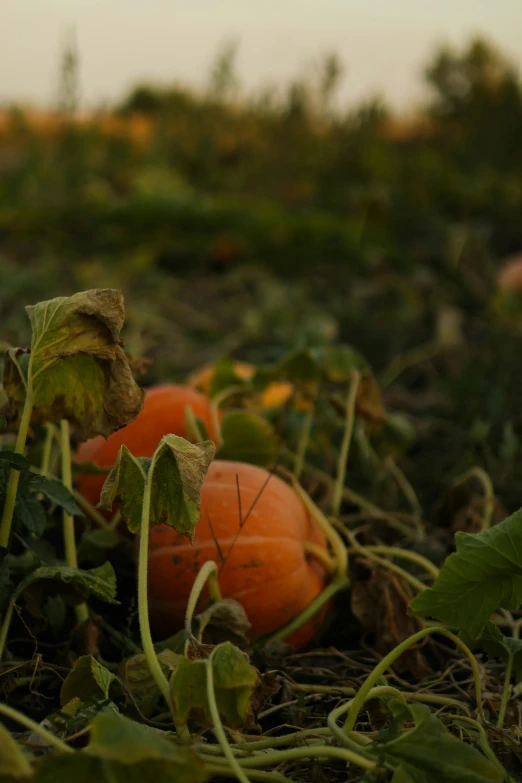
<svg viewBox="0 0 522 783">
<path fill-rule="evenodd" d="M 31 421 L 68 419 L 81 439 L 110 435 L 143 407 L 120 339 L 121 291 L 103 288 L 58 297 L 26 308 L 30 352 L 9 348 L 4 390 L 19 409 L 32 382 Z"/>
</svg>

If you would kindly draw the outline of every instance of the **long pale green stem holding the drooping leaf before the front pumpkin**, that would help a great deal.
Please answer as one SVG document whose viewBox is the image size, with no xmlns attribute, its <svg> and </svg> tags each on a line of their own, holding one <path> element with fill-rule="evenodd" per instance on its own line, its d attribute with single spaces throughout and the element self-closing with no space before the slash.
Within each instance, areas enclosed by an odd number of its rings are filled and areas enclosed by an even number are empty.
<svg viewBox="0 0 522 783">
<path fill-rule="evenodd" d="M 157 453 L 157 452 L 156 452 Z M 141 526 L 140 526 L 140 548 L 138 555 L 138 618 L 140 624 L 141 643 L 143 645 L 143 652 L 147 659 L 147 663 L 154 679 L 154 682 L 160 689 L 161 693 L 169 709 L 171 708 L 170 688 L 169 683 L 160 662 L 158 661 L 154 644 L 152 641 L 152 635 L 150 632 L 149 623 L 149 603 L 147 598 L 147 584 L 148 584 L 148 561 L 149 561 L 149 522 L 150 522 L 150 500 L 152 491 L 152 477 L 154 474 L 155 457 L 152 458 L 152 463 L 149 468 L 147 476 L 144 475 L 144 491 L 143 491 L 143 506 L 141 511 Z"/>
</svg>

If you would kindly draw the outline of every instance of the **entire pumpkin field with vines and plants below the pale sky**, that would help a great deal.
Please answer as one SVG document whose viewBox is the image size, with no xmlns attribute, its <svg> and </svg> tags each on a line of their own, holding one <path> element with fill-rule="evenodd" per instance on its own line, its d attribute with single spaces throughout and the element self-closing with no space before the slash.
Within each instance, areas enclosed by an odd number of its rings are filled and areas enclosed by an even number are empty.
<svg viewBox="0 0 522 783">
<path fill-rule="evenodd" d="M 74 62 L 0 109 L 0 783 L 522 781 L 515 70 Z"/>
</svg>

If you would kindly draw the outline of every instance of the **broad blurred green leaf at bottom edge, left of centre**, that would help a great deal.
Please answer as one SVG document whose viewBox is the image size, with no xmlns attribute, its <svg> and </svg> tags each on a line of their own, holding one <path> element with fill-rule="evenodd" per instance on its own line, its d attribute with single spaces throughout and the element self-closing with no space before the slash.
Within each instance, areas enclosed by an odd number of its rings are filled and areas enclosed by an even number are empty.
<svg viewBox="0 0 522 783">
<path fill-rule="evenodd" d="M 157 729 L 104 712 L 91 724 L 87 748 L 46 758 L 34 783 L 203 783 L 207 778 L 190 748 Z"/>
</svg>

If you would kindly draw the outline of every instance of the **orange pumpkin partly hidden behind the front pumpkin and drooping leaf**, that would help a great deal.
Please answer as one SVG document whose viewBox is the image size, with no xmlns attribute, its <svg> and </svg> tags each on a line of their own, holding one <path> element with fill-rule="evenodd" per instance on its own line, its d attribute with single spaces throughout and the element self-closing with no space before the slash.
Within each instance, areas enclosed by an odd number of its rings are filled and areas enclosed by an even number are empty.
<svg viewBox="0 0 522 783">
<path fill-rule="evenodd" d="M 77 451 L 76 461 L 93 462 L 101 468 L 110 468 L 116 462 L 118 451 L 123 444 L 135 457 L 152 457 L 164 435 L 186 437 L 187 405 L 192 408 L 194 415 L 203 421 L 210 437 L 215 438 L 208 398 L 188 386 L 166 383 L 152 386 L 146 391 L 143 410 L 131 424 L 114 432 L 107 439 L 100 435 L 82 443 Z M 78 491 L 95 506 L 100 499 L 104 481 L 104 475 L 79 475 Z"/>
</svg>

